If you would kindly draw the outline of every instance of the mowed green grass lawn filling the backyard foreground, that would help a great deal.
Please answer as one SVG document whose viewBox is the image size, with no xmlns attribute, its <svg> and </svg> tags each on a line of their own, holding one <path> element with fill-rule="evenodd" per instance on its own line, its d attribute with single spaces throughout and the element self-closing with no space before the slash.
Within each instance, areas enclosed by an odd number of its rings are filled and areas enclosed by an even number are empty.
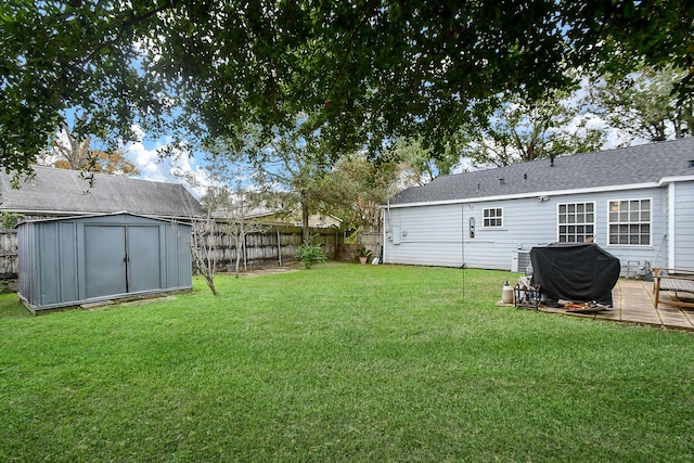
<svg viewBox="0 0 694 463">
<path fill-rule="evenodd" d="M 691 461 L 690 333 L 494 307 L 509 273 L 321 265 L 29 317 L 0 461 Z"/>
</svg>

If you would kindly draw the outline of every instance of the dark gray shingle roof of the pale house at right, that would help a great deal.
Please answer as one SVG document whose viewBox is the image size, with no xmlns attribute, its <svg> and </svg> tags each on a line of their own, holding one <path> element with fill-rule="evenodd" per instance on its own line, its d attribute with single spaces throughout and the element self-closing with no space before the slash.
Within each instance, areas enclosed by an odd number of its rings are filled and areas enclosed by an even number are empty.
<svg viewBox="0 0 694 463">
<path fill-rule="evenodd" d="M 488 170 L 442 176 L 397 194 L 390 204 L 538 194 L 658 182 L 693 176 L 694 138 L 575 154 Z M 502 180 L 503 179 L 503 180 Z"/>
</svg>

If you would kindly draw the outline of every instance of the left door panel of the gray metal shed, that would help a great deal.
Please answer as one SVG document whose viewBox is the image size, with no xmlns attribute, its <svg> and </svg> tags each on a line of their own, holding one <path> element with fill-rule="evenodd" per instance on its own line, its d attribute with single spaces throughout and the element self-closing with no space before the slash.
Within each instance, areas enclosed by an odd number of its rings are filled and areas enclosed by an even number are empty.
<svg viewBox="0 0 694 463">
<path fill-rule="evenodd" d="M 127 292 L 125 227 L 85 226 L 85 280 L 88 298 Z"/>
</svg>

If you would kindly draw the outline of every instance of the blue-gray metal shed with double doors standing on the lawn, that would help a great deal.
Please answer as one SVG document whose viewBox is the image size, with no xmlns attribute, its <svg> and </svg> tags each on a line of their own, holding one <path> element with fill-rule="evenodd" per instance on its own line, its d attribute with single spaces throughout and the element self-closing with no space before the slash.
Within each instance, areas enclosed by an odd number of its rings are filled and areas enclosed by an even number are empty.
<svg viewBox="0 0 694 463">
<path fill-rule="evenodd" d="M 18 296 L 34 312 L 191 290 L 190 224 L 128 213 L 28 221 Z"/>
</svg>

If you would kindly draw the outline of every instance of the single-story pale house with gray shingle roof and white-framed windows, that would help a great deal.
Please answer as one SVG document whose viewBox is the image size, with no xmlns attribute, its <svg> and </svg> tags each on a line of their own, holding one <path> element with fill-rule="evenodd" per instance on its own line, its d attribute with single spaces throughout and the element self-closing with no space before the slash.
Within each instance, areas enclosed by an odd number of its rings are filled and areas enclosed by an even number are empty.
<svg viewBox="0 0 694 463">
<path fill-rule="evenodd" d="M 442 176 L 383 207 L 384 262 L 524 271 L 595 242 L 622 275 L 694 269 L 694 138 Z"/>
</svg>

